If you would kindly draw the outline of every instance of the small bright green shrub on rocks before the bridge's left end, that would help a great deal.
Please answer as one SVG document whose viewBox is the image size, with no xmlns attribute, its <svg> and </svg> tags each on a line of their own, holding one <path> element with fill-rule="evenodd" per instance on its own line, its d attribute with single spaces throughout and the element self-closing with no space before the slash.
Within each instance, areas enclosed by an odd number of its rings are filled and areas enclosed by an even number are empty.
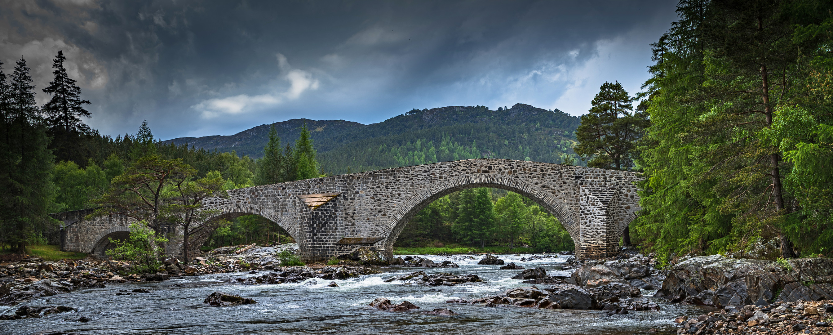
<svg viewBox="0 0 833 335">
<path fill-rule="evenodd" d="M 133 270 L 139 273 L 155 273 L 162 265 L 167 238 L 157 237 L 147 223 L 138 222 L 130 225 L 130 237 L 126 241 L 110 238 L 110 243 L 116 244 L 116 248 L 107 249 L 107 256 L 131 261 Z"/>
</svg>

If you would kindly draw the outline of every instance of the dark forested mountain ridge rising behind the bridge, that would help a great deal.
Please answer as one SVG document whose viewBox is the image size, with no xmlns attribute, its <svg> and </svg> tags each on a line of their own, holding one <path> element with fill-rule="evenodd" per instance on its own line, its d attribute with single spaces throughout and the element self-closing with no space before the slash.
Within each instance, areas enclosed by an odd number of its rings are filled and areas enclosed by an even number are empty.
<svg viewBox="0 0 833 335">
<path fill-rule="evenodd" d="M 547 111 L 517 103 L 496 111 L 485 106 L 414 109 L 369 125 L 304 118 L 272 124 L 285 145 L 287 141 L 294 143 L 304 123 L 312 132 L 322 170 L 341 174 L 481 157 L 561 163 L 575 155 L 571 149 L 573 132 L 581 122 L 557 109 Z M 164 143 L 234 150 L 241 156 L 259 158 L 270 126 Z"/>
</svg>

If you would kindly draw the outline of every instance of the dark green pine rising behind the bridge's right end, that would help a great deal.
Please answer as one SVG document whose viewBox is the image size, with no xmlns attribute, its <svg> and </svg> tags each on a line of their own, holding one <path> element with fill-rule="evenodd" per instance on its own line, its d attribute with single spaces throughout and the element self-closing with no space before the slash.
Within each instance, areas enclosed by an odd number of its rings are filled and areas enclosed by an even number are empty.
<svg viewBox="0 0 833 335">
<path fill-rule="evenodd" d="M 605 82 L 591 101 L 590 112 L 581 116 L 576 129 L 578 145 L 573 150 L 591 168 L 633 167 L 631 154 L 644 128 L 648 125 L 644 113 L 633 113 L 633 98 L 619 82 Z"/>
</svg>

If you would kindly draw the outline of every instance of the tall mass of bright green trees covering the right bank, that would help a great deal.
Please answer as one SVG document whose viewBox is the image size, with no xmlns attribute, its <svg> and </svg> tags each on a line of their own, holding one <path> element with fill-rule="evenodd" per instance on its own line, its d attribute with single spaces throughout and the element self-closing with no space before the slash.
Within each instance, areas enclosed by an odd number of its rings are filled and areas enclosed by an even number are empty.
<svg viewBox="0 0 833 335">
<path fill-rule="evenodd" d="M 643 94 L 647 180 L 632 225 L 651 251 L 726 253 L 761 237 L 791 258 L 833 243 L 831 9 L 680 2 Z"/>
</svg>

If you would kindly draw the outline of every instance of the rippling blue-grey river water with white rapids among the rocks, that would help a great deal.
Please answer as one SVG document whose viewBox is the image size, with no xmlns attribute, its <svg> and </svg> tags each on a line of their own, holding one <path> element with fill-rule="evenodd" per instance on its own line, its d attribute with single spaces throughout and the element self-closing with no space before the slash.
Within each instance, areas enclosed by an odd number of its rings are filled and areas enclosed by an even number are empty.
<svg viewBox="0 0 833 335">
<path fill-rule="evenodd" d="M 565 256 L 519 262 L 521 256 L 500 255 L 506 263 L 526 268 L 546 268 L 560 273 Z M 483 304 L 445 303 L 451 298 L 481 298 L 502 293 L 508 288 L 530 284 L 511 279 L 521 270 L 501 270 L 500 266 L 477 265 L 480 257 L 422 256 L 434 262 L 451 260 L 460 268 L 382 268 L 384 273 L 335 280 L 308 279 L 303 283 L 242 285 L 229 279 L 257 275 L 221 273 L 172 279 L 164 282 L 107 284 L 107 288 L 81 289 L 27 303 L 28 306 L 68 306 L 77 313 L 60 313 L 44 318 L 0 321 L 2 334 L 32 334 L 47 330 L 81 334 L 632 334 L 651 328 L 673 330 L 672 320 L 681 314 L 696 315 L 707 310 L 695 306 L 667 303 L 659 312 L 631 312 L 606 317 L 605 311 L 537 309 Z M 413 271 L 426 273 L 476 274 L 486 283 L 458 286 L 404 285 L 385 283 L 394 274 Z M 564 273 L 564 272 L 561 272 Z M 537 285 L 539 288 L 546 285 Z M 151 293 L 117 295 L 119 290 L 145 288 Z M 207 295 L 222 291 L 252 298 L 257 304 L 212 307 L 203 304 Z M 650 296 L 653 291 L 643 291 Z M 388 312 L 367 306 L 374 298 L 389 298 L 392 303 L 407 300 L 421 309 Z M 15 307 L 16 308 L 16 307 Z M 449 308 L 459 315 L 426 315 L 433 308 Z M 0 307 L 0 313 L 9 307 Z M 710 309 L 711 310 L 711 309 Z M 87 323 L 72 318 L 92 318 Z"/>
</svg>

